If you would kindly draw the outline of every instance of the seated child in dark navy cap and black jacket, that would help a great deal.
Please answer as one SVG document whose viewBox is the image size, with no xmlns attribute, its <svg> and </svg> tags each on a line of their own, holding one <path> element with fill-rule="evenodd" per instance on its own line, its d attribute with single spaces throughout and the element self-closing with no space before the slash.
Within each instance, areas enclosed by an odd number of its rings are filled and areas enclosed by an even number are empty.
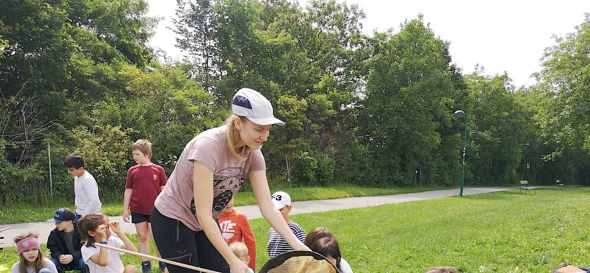
<svg viewBox="0 0 590 273">
<path fill-rule="evenodd" d="M 65 207 L 58 209 L 54 218 L 47 220 L 56 223 L 56 228 L 47 238 L 47 248 L 51 252 L 51 261 L 60 273 L 71 270 L 88 273 L 88 265 L 84 263 L 80 252 L 82 248 L 80 233 L 74 220 L 73 211 Z"/>
</svg>

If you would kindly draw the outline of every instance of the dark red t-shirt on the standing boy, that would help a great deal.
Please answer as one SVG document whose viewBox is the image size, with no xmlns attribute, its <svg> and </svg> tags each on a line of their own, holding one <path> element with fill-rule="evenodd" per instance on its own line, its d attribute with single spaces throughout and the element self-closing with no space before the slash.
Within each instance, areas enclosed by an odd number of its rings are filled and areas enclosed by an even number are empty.
<svg viewBox="0 0 590 273">
<path fill-rule="evenodd" d="M 167 181 L 164 168 L 156 164 L 129 168 L 125 188 L 133 190 L 129 204 L 131 211 L 152 215 L 154 201 Z"/>
</svg>

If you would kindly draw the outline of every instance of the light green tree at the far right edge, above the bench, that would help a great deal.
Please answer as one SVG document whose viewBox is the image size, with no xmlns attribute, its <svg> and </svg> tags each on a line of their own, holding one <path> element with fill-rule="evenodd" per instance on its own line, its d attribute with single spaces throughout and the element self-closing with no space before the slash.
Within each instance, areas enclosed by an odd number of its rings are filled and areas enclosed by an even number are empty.
<svg viewBox="0 0 590 273">
<path fill-rule="evenodd" d="M 545 49 L 543 69 L 530 92 L 537 98 L 535 121 L 540 127 L 539 147 L 543 177 L 572 183 L 590 183 L 590 14 L 574 33 L 556 38 Z"/>
</svg>

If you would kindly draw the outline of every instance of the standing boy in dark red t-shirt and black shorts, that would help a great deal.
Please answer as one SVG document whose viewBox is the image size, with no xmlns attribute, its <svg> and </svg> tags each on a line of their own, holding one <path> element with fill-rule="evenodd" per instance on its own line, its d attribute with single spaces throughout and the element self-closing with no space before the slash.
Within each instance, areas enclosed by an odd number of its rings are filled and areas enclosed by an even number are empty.
<svg viewBox="0 0 590 273">
<path fill-rule="evenodd" d="M 150 238 L 153 240 L 152 226 L 150 224 L 154 201 L 158 194 L 164 190 L 167 178 L 164 168 L 153 164 L 152 142 L 149 140 L 137 140 L 131 147 L 133 159 L 137 165 L 129 168 L 127 172 L 127 181 L 125 183 L 125 193 L 123 194 L 123 220 L 129 222 L 129 212 L 131 211 L 131 222 L 135 224 L 137 230 L 137 244 L 139 252 L 150 255 Z M 160 256 L 158 248 L 156 253 Z M 164 272 L 166 266 L 159 263 L 161 272 Z M 141 257 L 141 271 L 150 272 L 152 263 L 150 260 Z"/>
</svg>

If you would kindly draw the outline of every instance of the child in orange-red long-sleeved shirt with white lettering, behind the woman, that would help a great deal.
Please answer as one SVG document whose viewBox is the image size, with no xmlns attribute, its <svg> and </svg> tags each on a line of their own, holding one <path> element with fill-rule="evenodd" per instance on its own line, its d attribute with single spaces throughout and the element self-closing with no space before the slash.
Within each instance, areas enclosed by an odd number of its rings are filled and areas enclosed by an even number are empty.
<svg viewBox="0 0 590 273">
<path fill-rule="evenodd" d="M 228 245 L 233 242 L 242 242 L 242 239 L 244 239 L 244 243 L 248 248 L 248 255 L 250 256 L 248 268 L 255 269 L 256 239 L 246 214 L 233 209 L 233 200 L 234 198 L 231 198 L 229 203 L 220 214 L 219 222 L 222 235 Z"/>
</svg>

